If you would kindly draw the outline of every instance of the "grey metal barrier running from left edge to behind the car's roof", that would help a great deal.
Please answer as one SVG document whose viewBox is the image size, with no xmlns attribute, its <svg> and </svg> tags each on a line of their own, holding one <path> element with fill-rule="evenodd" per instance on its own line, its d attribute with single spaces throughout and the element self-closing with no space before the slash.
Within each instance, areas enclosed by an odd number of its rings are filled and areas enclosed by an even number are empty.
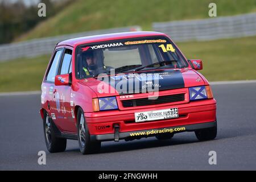
<svg viewBox="0 0 256 182">
<path fill-rule="evenodd" d="M 40 38 L 28 40 L 26 42 L 2 44 L 0 45 L 0 61 L 6 61 L 16 59 L 19 57 L 34 57 L 39 55 L 46 55 L 53 51 L 53 48 L 58 42 L 63 40 L 78 38 L 82 36 L 99 35 L 99 34 L 110 34 L 116 32 L 127 32 L 127 31 L 140 31 L 141 27 L 122 27 L 112 28 L 108 30 L 97 30 L 80 32 L 76 34 L 53 36 L 48 38 Z"/>
</svg>

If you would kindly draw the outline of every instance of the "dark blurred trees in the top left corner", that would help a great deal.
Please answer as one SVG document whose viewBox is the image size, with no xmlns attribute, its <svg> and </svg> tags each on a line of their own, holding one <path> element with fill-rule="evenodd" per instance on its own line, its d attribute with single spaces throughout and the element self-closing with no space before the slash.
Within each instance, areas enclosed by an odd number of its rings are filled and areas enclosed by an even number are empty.
<svg viewBox="0 0 256 182">
<path fill-rule="evenodd" d="M 0 44 L 10 43 L 36 24 L 51 18 L 58 10 L 67 6 L 71 1 L 39 1 L 46 4 L 47 16 L 38 16 L 38 4 L 25 5 L 23 1 L 0 1 Z"/>
</svg>

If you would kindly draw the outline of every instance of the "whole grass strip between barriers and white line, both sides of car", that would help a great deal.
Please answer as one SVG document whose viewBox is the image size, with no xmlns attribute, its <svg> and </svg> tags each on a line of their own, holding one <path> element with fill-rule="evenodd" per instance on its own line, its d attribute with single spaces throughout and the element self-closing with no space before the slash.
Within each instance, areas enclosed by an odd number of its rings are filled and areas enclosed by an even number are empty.
<svg viewBox="0 0 256 182">
<path fill-rule="evenodd" d="M 177 43 L 187 59 L 203 60 L 209 81 L 255 80 L 256 36 Z M 0 63 L 0 92 L 40 90 L 49 55 Z"/>
</svg>

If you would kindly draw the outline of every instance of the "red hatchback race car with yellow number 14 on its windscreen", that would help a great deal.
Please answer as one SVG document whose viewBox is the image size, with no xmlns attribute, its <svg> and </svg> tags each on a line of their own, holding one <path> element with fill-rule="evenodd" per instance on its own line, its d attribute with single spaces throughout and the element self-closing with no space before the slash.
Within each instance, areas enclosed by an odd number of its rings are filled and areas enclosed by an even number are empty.
<svg viewBox="0 0 256 182">
<path fill-rule="evenodd" d="M 195 131 L 217 134 L 216 100 L 209 82 L 174 42 L 159 32 L 87 36 L 55 47 L 42 82 L 44 137 L 49 152 L 79 141 L 82 154 L 102 141 Z"/>
</svg>

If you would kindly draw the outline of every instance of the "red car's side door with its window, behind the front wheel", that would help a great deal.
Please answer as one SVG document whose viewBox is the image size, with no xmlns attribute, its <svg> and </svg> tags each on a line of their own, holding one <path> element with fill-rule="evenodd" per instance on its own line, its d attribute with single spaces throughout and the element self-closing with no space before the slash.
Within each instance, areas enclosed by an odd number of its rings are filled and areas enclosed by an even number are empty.
<svg viewBox="0 0 256 182">
<path fill-rule="evenodd" d="M 60 62 L 60 67 L 57 75 L 71 74 L 72 48 L 65 47 L 64 53 Z M 55 85 L 53 98 L 55 98 L 56 121 L 58 126 L 64 133 L 73 133 L 76 131 L 75 122 L 73 122 L 71 108 L 71 85 Z"/>
</svg>

